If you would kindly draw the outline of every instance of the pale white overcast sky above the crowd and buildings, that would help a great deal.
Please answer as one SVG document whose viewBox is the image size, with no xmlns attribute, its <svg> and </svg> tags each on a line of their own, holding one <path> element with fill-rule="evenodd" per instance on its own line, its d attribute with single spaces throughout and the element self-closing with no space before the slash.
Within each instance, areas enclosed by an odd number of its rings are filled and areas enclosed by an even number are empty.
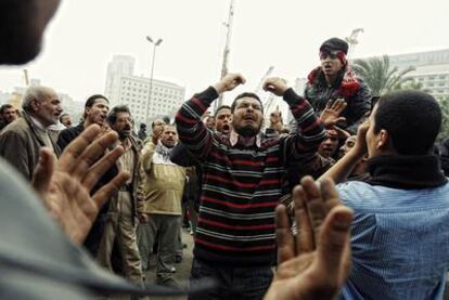
<svg viewBox="0 0 449 300">
<path fill-rule="evenodd" d="M 187 88 L 187 95 L 219 79 L 229 1 L 62 0 L 44 37 L 43 51 L 28 64 L 31 78 L 85 101 L 103 93 L 114 54 L 136 58 L 136 75 Z M 331 37 L 363 28 L 355 56 L 449 48 L 449 1 L 235 0 L 229 69 L 247 78 L 238 92 L 253 91 L 270 65 L 293 83 L 318 63 L 318 48 Z M 0 90 L 24 86 L 23 69 L 0 69 Z M 230 97 L 228 97 L 229 101 Z"/>
</svg>

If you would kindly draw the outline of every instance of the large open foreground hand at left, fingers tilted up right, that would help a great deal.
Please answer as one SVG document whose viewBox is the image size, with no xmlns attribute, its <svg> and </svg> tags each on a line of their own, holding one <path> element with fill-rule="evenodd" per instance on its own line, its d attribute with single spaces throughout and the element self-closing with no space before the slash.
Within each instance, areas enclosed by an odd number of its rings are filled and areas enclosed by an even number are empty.
<svg viewBox="0 0 449 300">
<path fill-rule="evenodd" d="M 50 214 L 75 243 L 85 240 L 99 209 L 129 178 L 120 172 L 93 195 L 89 194 L 124 153 L 117 146 L 105 154 L 118 135 L 113 131 L 100 134 L 99 126 L 89 126 L 67 145 L 57 161 L 49 148 L 42 148 L 33 175 L 33 186 Z"/>
</svg>

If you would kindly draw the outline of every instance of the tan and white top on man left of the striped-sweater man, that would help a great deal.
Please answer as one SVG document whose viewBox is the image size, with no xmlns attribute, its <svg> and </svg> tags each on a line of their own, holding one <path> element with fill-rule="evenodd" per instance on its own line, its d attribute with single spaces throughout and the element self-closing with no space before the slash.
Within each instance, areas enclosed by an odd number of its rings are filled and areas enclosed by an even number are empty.
<svg viewBox="0 0 449 300">
<path fill-rule="evenodd" d="M 139 186 L 138 212 L 181 216 L 185 168 L 155 152 L 149 141 L 142 151 L 143 180 Z"/>
</svg>

